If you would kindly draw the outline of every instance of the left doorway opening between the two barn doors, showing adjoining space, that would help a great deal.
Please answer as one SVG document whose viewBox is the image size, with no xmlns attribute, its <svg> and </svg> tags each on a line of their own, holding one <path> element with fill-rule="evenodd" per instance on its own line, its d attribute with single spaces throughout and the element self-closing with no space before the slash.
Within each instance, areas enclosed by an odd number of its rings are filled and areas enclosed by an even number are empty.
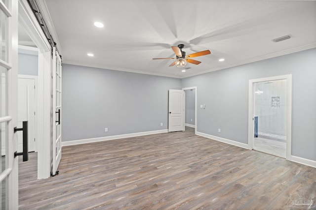
<svg viewBox="0 0 316 210">
<path fill-rule="evenodd" d="M 19 157 L 19 171 L 21 167 L 27 167 L 29 176 L 34 180 L 38 178 L 38 165 L 34 164 L 38 159 L 38 67 L 39 49 L 28 33 L 19 23 L 18 27 L 18 124 L 28 121 L 28 151 L 29 159 L 25 162 Z M 22 151 L 22 133 L 18 134 L 18 151 Z M 32 163 L 32 164 L 31 164 Z M 22 176 L 21 174 L 19 176 Z M 20 177 L 20 180 L 21 179 Z"/>
</svg>

